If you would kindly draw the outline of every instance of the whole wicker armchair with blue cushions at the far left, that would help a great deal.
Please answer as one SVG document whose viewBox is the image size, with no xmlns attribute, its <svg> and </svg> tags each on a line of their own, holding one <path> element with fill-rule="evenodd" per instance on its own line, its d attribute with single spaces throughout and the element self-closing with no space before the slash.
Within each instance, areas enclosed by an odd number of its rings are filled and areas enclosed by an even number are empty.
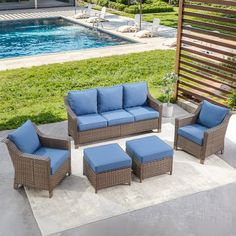
<svg viewBox="0 0 236 236">
<path fill-rule="evenodd" d="M 48 137 L 28 120 L 3 140 L 15 169 L 14 185 L 49 191 L 71 175 L 70 139 Z"/>
</svg>

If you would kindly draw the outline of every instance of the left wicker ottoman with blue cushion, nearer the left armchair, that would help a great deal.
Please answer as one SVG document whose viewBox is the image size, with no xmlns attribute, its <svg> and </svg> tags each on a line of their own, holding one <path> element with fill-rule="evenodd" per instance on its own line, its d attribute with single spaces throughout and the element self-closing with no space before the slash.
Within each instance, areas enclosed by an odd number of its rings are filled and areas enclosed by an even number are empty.
<svg viewBox="0 0 236 236">
<path fill-rule="evenodd" d="M 131 184 L 131 158 L 118 144 L 84 149 L 83 174 L 95 193 L 118 184 Z"/>
</svg>

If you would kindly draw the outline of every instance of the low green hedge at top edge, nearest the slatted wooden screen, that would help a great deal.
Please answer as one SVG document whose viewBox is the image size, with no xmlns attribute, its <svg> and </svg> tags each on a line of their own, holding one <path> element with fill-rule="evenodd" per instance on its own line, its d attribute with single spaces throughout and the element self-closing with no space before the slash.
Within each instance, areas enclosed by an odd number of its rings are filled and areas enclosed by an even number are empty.
<svg viewBox="0 0 236 236">
<path fill-rule="evenodd" d="M 143 13 L 157 13 L 157 12 L 171 12 L 173 7 L 166 4 L 165 2 L 154 2 L 152 4 L 143 4 L 142 5 Z M 139 5 L 132 5 L 124 9 L 126 13 L 137 14 L 139 13 Z"/>
</svg>

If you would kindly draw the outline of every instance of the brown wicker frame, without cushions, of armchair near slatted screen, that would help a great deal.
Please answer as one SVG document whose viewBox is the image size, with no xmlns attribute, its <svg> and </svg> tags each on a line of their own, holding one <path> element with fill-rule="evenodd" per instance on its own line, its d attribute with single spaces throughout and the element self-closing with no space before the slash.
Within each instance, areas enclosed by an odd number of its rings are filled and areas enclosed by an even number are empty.
<svg viewBox="0 0 236 236">
<path fill-rule="evenodd" d="M 181 148 L 182 150 L 196 156 L 200 159 L 200 163 L 204 164 L 205 158 L 217 152 L 224 152 L 224 139 L 225 133 L 227 130 L 227 126 L 229 123 L 230 116 L 232 115 L 229 112 L 221 124 L 209 128 L 204 132 L 203 144 L 199 145 L 183 136 L 178 134 L 178 130 L 180 127 L 184 127 L 187 125 L 195 124 L 199 113 L 201 111 L 201 106 L 203 103 L 199 105 L 194 114 L 191 114 L 187 117 L 176 118 L 175 119 L 175 137 L 174 137 L 174 149 L 178 150 Z"/>
</svg>

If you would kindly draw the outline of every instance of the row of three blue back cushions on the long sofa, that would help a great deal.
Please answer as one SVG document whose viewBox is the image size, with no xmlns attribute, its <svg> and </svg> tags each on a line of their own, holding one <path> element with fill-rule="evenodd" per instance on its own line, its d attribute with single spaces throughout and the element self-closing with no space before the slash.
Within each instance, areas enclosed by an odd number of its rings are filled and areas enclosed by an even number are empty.
<svg viewBox="0 0 236 236">
<path fill-rule="evenodd" d="M 67 100 L 72 111 L 77 116 L 81 116 L 143 106 L 147 103 L 147 96 L 147 83 L 140 82 L 82 91 L 70 91 Z"/>
</svg>

